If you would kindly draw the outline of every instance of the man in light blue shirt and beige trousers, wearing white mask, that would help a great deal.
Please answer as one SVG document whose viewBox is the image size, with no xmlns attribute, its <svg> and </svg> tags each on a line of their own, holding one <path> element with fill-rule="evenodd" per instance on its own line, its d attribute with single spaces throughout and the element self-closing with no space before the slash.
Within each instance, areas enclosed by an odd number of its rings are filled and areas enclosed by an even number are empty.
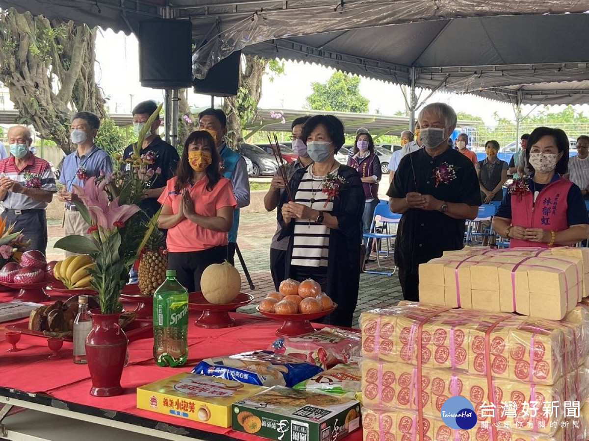
<svg viewBox="0 0 589 441">
<path fill-rule="evenodd" d="M 100 119 L 92 112 L 78 112 L 71 118 L 71 142 L 77 147 L 67 155 L 59 175 L 64 187 L 57 193 L 59 201 L 65 202 L 64 233 L 66 236 L 84 235 L 89 225 L 74 205 L 77 198 L 72 192 L 74 185 L 83 187 L 88 178 L 98 178 L 100 173 L 112 173 L 112 161 L 108 153 L 99 149 L 94 138 L 100 128 Z M 72 253 L 66 251 L 65 256 Z"/>
</svg>

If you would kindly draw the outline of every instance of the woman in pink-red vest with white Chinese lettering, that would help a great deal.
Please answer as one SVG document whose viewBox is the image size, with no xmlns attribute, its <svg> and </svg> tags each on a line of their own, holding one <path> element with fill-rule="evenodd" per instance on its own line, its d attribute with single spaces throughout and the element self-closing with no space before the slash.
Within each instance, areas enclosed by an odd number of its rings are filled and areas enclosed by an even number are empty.
<svg viewBox="0 0 589 441">
<path fill-rule="evenodd" d="M 511 239 L 510 248 L 574 245 L 589 237 L 581 190 L 561 177 L 568 168 L 568 137 L 561 129 L 538 127 L 525 151 L 533 171 L 509 186 L 493 229 Z"/>
</svg>

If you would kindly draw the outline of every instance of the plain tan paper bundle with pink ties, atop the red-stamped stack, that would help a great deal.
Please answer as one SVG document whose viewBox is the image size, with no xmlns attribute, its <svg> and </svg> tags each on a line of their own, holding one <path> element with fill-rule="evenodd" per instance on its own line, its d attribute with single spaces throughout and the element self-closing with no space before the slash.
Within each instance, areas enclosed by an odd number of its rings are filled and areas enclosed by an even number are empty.
<svg viewBox="0 0 589 441">
<path fill-rule="evenodd" d="M 419 280 L 423 303 L 560 320 L 589 296 L 589 249 L 445 252 L 419 265 Z"/>
</svg>

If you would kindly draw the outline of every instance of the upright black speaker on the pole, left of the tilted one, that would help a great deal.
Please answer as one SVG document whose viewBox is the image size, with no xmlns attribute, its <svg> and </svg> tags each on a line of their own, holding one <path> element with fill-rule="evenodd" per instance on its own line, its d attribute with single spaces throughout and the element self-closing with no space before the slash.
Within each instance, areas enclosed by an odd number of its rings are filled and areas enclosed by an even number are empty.
<svg viewBox="0 0 589 441">
<path fill-rule="evenodd" d="M 153 19 L 139 23 L 139 81 L 154 89 L 192 85 L 190 20 Z"/>
</svg>

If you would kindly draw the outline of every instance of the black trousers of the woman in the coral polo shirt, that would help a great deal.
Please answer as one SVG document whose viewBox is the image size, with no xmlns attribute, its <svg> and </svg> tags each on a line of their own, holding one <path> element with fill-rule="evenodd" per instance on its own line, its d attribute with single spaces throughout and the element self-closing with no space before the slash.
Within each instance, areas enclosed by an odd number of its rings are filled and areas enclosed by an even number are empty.
<svg viewBox="0 0 589 441">
<path fill-rule="evenodd" d="M 202 251 L 168 253 L 168 269 L 176 270 L 176 279 L 188 292 L 200 291 L 200 278 L 207 266 L 223 263 L 227 246 L 216 246 Z"/>
</svg>

